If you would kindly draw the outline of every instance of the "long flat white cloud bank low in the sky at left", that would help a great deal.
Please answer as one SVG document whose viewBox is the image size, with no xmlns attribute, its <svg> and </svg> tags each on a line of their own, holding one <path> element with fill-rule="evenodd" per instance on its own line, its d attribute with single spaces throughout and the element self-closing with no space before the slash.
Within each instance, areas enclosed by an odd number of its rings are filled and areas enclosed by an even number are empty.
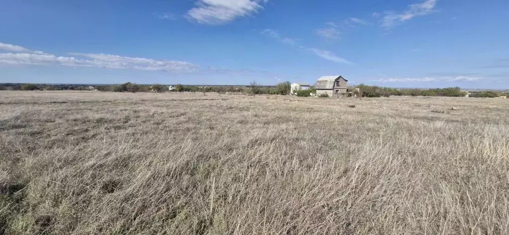
<svg viewBox="0 0 509 235">
<path fill-rule="evenodd" d="M 10 45 L 9 48 L 14 48 L 12 50 L 20 50 L 23 47 Z M 71 67 L 135 69 L 167 72 L 188 72 L 194 71 L 198 67 L 191 63 L 181 61 L 153 60 L 150 58 L 136 58 L 109 54 L 72 54 L 80 56 L 81 58 L 56 56 L 42 51 L 30 50 L 25 53 L 0 53 L 0 65 L 60 65 Z"/>
</svg>

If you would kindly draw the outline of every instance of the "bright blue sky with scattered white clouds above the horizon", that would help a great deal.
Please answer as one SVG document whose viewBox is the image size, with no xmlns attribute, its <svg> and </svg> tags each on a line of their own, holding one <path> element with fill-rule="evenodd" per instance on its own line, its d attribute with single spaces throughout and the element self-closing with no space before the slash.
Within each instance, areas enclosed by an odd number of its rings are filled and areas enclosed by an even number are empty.
<svg viewBox="0 0 509 235">
<path fill-rule="evenodd" d="M 0 82 L 509 89 L 509 1 L 0 4 Z"/>
</svg>

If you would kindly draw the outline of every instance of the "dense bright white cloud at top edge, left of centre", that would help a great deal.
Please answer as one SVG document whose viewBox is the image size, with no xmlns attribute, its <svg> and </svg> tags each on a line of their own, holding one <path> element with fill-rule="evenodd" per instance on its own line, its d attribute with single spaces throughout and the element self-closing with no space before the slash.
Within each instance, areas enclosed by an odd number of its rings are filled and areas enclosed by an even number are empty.
<svg viewBox="0 0 509 235">
<path fill-rule="evenodd" d="M 224 24 L 258 12 L 268 0 L 199 0 L 186 17 L 202 24 Z"/>
</svg>

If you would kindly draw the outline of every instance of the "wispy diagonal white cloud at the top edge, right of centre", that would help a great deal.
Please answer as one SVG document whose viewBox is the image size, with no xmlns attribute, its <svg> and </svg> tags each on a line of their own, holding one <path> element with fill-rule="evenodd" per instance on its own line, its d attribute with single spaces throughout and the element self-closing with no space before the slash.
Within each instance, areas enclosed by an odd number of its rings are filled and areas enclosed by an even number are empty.
<svg viewBox="0 0 509 235">
<path fill-rule="evenodd" d="M 401 13 L 387 12 L 380 21 L 384 28 L 391 28 L 394 25 L 410 20 L 416 16 L 428 15 L 435 12 L 434 8 L 438 0 L 426 0 L 423 3 L 416 3 L 408 6 L 408 9 Z"/>
</svg>

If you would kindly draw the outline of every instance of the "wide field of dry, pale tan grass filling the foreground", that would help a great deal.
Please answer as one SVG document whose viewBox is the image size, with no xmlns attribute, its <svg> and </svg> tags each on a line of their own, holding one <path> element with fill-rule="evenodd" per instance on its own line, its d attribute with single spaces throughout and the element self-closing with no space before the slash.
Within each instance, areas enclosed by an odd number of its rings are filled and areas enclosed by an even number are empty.
<svg viewBox="0 0 509 235">
<path fill-rule="evenodd" d="M 506 99 L 0 92 L 0 234 L 509 234 L 508 157 Z"/>
</svg>

